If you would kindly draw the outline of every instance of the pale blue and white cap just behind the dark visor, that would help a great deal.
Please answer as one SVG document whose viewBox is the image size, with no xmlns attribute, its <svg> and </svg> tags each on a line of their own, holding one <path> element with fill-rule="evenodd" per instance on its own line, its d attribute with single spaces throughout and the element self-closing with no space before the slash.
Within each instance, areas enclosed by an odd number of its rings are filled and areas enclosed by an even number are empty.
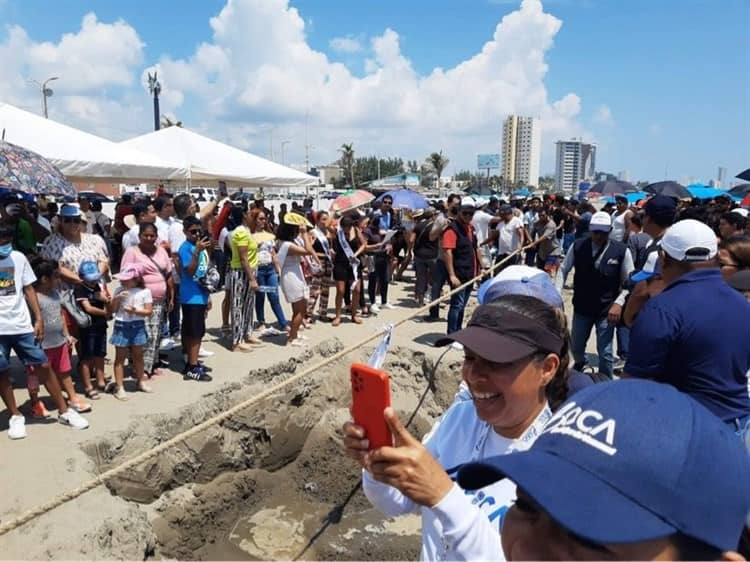
<svg viewBox="0 0 750 562">
<path fill-rule="evenodd" d="M 479 286 L 479 304 L 487 304 L 505 295 L 526 295 L 563 309 L 560 292 L 547 272 L 527 265 L 511 265 Z"/>
</svg>

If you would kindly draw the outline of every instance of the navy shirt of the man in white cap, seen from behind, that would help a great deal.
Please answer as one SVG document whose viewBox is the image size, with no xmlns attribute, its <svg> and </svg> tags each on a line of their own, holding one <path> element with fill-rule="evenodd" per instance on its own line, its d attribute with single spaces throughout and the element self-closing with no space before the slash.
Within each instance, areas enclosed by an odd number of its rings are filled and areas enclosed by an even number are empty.
<svg viewBox="0 0 750 562">
<path fill-rule="evenodd" d="M 671 384 L 729 422 L 750 414 L 750 303 L 718 269 L 683 275 L 630 331 L 625 373 Z"/>
</svg>

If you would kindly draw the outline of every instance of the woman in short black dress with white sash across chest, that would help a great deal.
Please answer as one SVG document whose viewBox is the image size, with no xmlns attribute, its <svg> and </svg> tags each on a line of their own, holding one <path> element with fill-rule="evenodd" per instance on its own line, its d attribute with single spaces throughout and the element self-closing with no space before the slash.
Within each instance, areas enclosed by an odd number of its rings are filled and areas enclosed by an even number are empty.
<svg viewBox="0 0 750 562">
<path fill-rule="evenodd" d="M 341 308 L 348 289 L 351 289 L 352 322 L 362 323 L 357 316 L 362 289 L 359 256 L 367 249 L 367 242 L 357 226 L 359 220 L 359 213 L 342 217 L 333 241 L 333 280 L 336 281 L 336 317 L 333 326 L 341 324 Z"/>
</svg>

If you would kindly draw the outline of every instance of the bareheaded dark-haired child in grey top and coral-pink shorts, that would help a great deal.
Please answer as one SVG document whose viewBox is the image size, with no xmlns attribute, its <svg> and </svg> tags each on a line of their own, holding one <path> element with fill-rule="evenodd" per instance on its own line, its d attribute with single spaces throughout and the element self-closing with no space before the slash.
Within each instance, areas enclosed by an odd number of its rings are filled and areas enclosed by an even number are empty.
<svg viewBox="0 0 750 562">
<path fill-rule="evenodd" d="M 79 414 L 91 411 L 91 405 L 82 400 L 73 388 L 73 381 L 70 376 L 70 348 L 72 348 L 76 339 L 68 333 L 68 327 L 62 316 L 62 305 L 60 295 L 55 290 L 60 275 L 57 270 L 57 262 L 37 259 L 31 264 L 36 275 L 36 282 L 33 284 L 36 289 L 37 299 L 39 300 L 39 310 L 42 312 L 44 321 L 44 339 L 41 341 L 42 348 L 49 359 L 50 368 L 60 381 L 60 385 L 68 395 L 68 406 L 73 408 Z M 34 378 L 37 377 L 34 375 Z M 31 380 L 31 376 L 29 376 Z M 36 385 L 36 392 L 32 394 L 32 385 L 29 386 L 31 395 L 31 411 L 34 417 L 44 413 L 44 404 L 39 400 L 39 383 Z M 38 405 L 37 405 L 38 404 Z"/>
</svg>

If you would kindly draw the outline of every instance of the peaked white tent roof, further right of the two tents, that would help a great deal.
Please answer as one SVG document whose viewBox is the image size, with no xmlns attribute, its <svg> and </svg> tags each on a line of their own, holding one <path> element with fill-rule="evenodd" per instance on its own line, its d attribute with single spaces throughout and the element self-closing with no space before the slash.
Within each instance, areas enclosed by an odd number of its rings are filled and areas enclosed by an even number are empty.
<svg viewBox="0 0 750 562">
<path fill-rule="evenodd" d="M 188 169 L 193 182 L 224 180 L 258 187 L 297 187 L 318 183 L 316 177 L 182 127 L 167 127 L 120 144 L 179 163 Z"/>
</svg>

